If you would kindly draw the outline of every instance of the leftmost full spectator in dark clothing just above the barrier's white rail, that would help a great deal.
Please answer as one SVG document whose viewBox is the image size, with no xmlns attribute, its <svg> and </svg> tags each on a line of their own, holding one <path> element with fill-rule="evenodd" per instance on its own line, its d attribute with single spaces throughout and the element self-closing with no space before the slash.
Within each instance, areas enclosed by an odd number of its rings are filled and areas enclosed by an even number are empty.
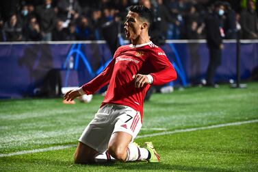
<svg viewBox="0 0 258 172">
<path fill-rule="evenodd" d="M 21 22 L 18 21 L 16 14 L 12 14 L 9 21 L 3 27 L 7 41 L 21 41 L 23 40 L 23 29 Z"/>
</svg>

